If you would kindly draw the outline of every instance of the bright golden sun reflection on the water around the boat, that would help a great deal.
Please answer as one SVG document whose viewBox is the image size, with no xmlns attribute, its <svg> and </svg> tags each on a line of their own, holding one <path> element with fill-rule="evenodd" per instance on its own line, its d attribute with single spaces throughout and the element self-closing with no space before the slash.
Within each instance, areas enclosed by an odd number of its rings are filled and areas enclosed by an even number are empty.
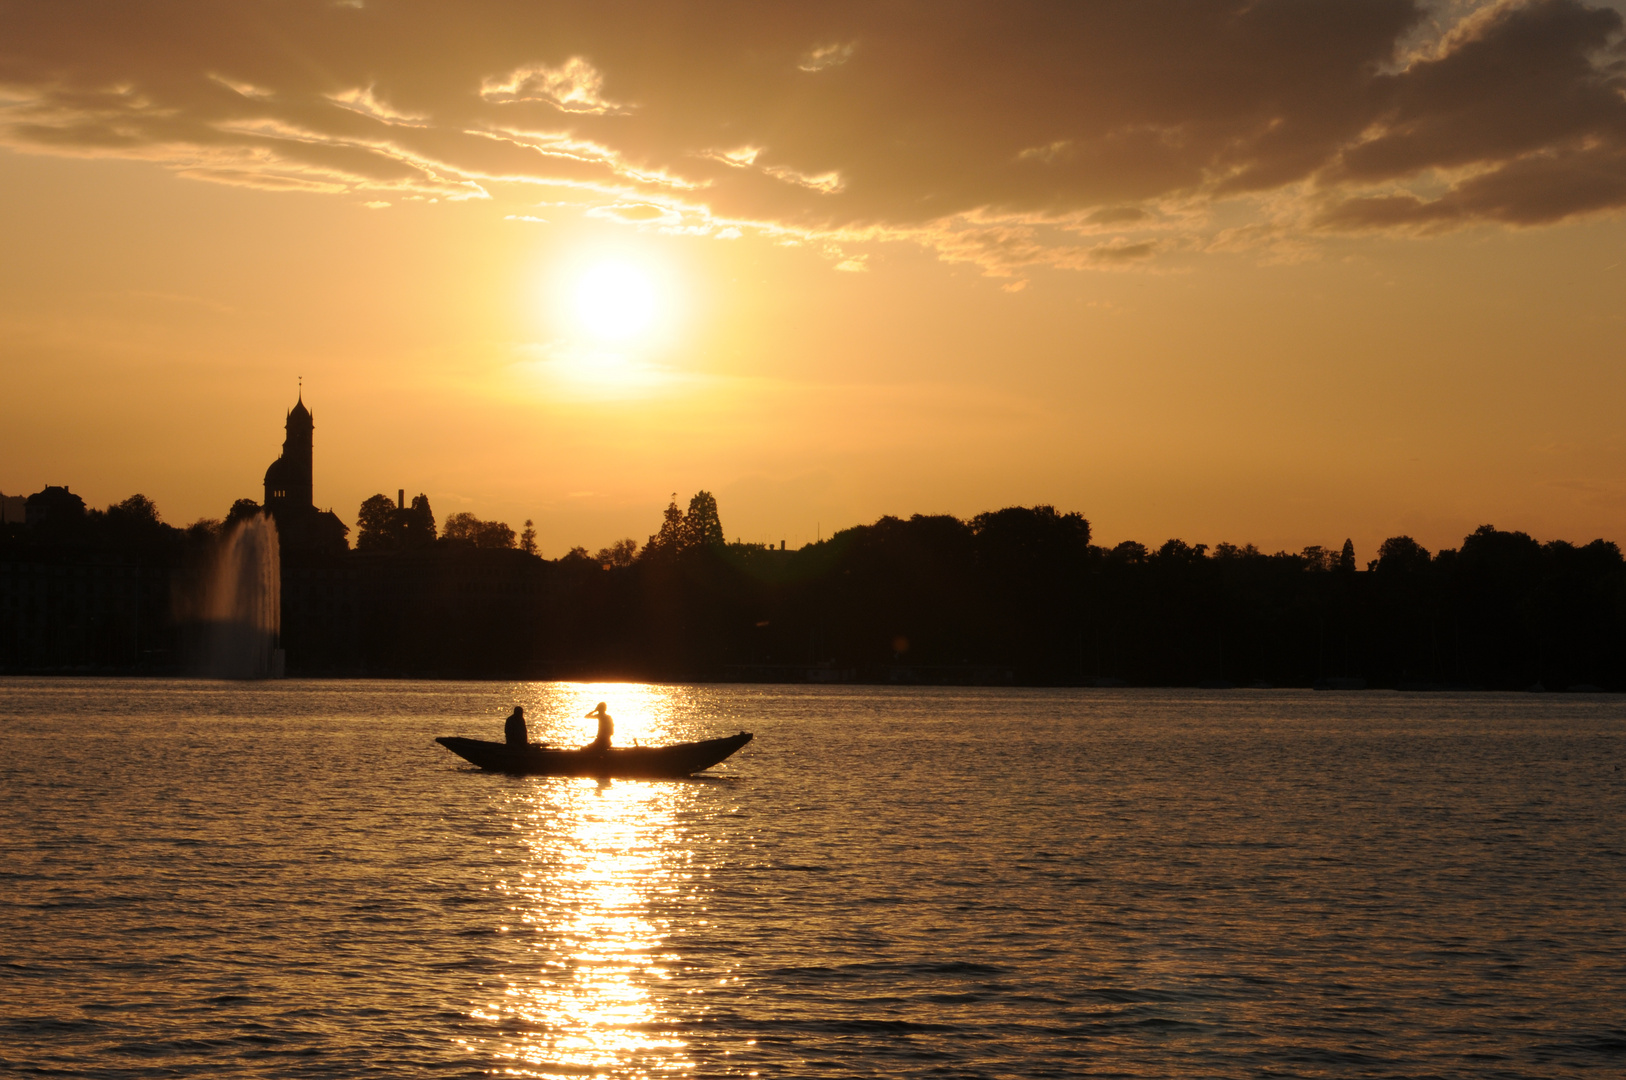
<svg viewBox="0 0 1626 1080">
<path fill-rule="evenodd" d="M 530 737 L 584 745 L 600 701 L 615 743 L 704 738 L 714 721 L 681 691 L 639 683 L 520 683 Z M 465 1043 L 493 1075 L 689 1075 L 704 1047 L 691 1025 L 707 1012 L 701 979 L 732 974 L 685 956 L 707 925 L 711 867 L 722 839 L 709 825 L 719 789 L 699 781 L 491 777 L 493 891 L 501 934 Z M 491 924 L 486 924 L 491 925 Z M 702 973 L 704 969 L 704 973 Z M 727 978 L 724 978 L 727 982 Z"/>
</svg>

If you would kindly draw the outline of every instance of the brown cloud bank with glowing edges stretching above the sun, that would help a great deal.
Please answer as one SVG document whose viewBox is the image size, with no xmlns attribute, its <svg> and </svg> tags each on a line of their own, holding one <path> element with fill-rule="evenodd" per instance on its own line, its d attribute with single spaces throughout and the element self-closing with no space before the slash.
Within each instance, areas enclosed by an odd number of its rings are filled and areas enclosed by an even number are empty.
<svg viewBox="0 0 1626 1080">
<path fill-rule="evenodd" d="M 1621 16 L 1579 0 L 1457 21 L 1411 0 L 59 2 L 0 21 L 11 146 L 833 252 L 911 239 L 995 272 L 1143 259 L 1159 223 L 1223 198 L 1296 205 L 1301 229 L 1626 203 Z"/>
</svg>

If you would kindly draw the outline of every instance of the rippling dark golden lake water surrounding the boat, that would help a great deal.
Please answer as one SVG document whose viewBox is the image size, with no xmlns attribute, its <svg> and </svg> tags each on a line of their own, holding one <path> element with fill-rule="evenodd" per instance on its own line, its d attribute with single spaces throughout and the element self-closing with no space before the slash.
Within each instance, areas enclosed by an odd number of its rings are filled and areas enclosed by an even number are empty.
<svg viewBox="0 0 1626 1080">
<path fill-rule="evenodd" d="M 433 742 L 600 699 L 756 742 Z M 1623 810 L 1608 696 L 0 680 L 0 1067 L 1619 1075 Z"/>
</svg>

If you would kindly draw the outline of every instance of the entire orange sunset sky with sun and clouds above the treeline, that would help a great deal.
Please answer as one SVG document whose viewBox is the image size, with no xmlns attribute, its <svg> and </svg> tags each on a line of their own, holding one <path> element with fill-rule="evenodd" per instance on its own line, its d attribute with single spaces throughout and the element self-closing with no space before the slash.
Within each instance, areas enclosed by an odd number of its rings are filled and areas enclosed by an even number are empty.
<svg viewBox="0 0 1626 1080">
<path fill-rule="evenodd" d="M 0 491 L 1626 542 L 1619 5 L 3 3 Z"/>
</svg>

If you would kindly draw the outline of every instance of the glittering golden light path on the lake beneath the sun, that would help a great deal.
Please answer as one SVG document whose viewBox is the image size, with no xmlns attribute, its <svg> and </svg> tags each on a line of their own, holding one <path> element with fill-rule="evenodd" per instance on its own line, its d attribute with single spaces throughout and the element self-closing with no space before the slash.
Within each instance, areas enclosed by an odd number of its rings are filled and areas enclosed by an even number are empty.
<svg viewBox="0 0 1626 1080">
<path fill-rule="evenodd" d="M 564 688 L 554 688 L 564 690 Z M 584 743 L 584 714 L 610 701 L 616 742 L 681 742 L 660 686 L 571 686 L 527 708 L 546 709 L 532 738 Z M 491 1046 L 498 1075 L 670 1075 L 694 1069 L 670 1031 L 660 984 L 680 956 L 670 917 L 704 919 L 694 851 L 680 821 L 685 782 L 527 777 L 504 795 L 519 856 L 512 878 L 494 888 L 511 899 L 502 934 L 528 938 L 501 997 L 472 1010 L 511 1041 Z M 657 911 L 660 909 L 660 911 Z M 491 989 L 498 989 L 493 986 Z"/>
</svg>

